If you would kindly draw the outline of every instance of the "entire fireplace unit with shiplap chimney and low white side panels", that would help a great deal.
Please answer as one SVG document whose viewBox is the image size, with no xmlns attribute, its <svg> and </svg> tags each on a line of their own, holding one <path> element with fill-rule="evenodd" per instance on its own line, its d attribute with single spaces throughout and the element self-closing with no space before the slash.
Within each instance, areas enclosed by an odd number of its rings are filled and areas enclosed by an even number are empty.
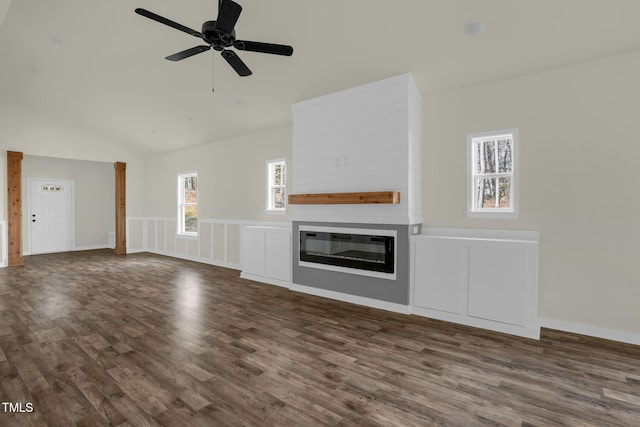
<svg viewBox="0 0 640 427">
<path fill-rule="evenodd" d="M 539 337 L 537 232 L 422 228 L 422 100 L 411 75 L 300 102 L 292 109 L 296 198 L 397 192 L 400 200 L 293 204 L 291 228 L 243 227 L 243 277 Z M 301 262 L 301 228 L 393 235 L 394 273 L 362 274 Z M 502 273 L 496 279 L 497 269 Z"/>
</svg>

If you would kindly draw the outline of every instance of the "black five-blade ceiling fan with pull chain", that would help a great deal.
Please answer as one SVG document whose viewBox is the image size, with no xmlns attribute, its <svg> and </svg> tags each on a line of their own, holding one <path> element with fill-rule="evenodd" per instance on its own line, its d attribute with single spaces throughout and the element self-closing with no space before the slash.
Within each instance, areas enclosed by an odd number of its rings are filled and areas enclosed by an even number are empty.
<svg viewBox="0 0 640 427">
<path fill-rule="evenodd" d="M 153 19 L 161 24 L 168 25 L 192 36 L 201 38 L 206 45 L 192 47 L 182 52 L 174 53 L 166 57 L 169 61 L 181 61 L 198 53 L 206 52 L 214 49 L 222 55 L 222 57 L 231 65 L 231 67 L 241 77 L 251 75 L 251 70 L 240 59 L 235 51 L 228 48 L 233 47 L 238 50 L 246 50 L 249 52 L 270 53 L 273 55 L 293 55 L 293 48 L 287 45 L 253 42 L 248 40 L 236 40 L 235 25 L 242 12 L 242 6 L 232 0 L 219 0 L 218 17 L 215 21 L 207 21 L 202 24 L 202 31 L 192 30 L 189 27 L 178 24 L 163 16 L 157 15 L 146 9 L 137 8 L 136 13 L 146 18 Z"/>
</svg>

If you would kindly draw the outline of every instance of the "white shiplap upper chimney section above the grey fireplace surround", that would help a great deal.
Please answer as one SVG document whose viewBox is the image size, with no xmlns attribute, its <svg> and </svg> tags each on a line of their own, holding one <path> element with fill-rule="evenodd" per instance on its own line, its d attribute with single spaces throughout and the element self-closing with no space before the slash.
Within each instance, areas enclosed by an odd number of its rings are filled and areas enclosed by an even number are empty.
<svg viewBox="0 0 640 427">
<path fill-rule="evenodd" d="M 294 221 L 422 223 L 422 99 L 410 74 L 293 105 L 293 193 L 399 191 L 399 204 L 297 205 Z"/>
</svg>

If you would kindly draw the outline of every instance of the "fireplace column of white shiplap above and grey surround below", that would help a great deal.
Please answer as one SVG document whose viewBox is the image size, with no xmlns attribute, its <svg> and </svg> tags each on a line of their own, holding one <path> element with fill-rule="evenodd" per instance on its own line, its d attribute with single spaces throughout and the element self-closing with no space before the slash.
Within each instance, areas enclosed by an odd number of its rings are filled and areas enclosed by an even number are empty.
<svg viewBox="0 0 640 427">
<path fill-rule="evenodd" d="M 408 312 L 409 237 L 422 224 L 422 99 L 411 75 L 300 102 L 292 109 L 293 194 L 400 193 L 395 204 L 293 205 L 293 288 Z M 396 271 L 389 279 L 314 268 L 299 259 L 300 227 L 393 234 Z"/>
</svg>

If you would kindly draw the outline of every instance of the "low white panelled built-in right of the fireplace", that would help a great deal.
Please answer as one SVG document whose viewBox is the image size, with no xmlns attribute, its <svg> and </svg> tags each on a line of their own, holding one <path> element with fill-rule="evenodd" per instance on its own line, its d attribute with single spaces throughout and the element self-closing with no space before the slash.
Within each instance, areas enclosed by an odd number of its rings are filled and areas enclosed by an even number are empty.
<svg viewBox="0 0 640 427">
<path fill-rule="evenodd" d="M 414 314 L 539 338 L 537 232 L 425 228 L 411 256 Z"/>
</svg>

